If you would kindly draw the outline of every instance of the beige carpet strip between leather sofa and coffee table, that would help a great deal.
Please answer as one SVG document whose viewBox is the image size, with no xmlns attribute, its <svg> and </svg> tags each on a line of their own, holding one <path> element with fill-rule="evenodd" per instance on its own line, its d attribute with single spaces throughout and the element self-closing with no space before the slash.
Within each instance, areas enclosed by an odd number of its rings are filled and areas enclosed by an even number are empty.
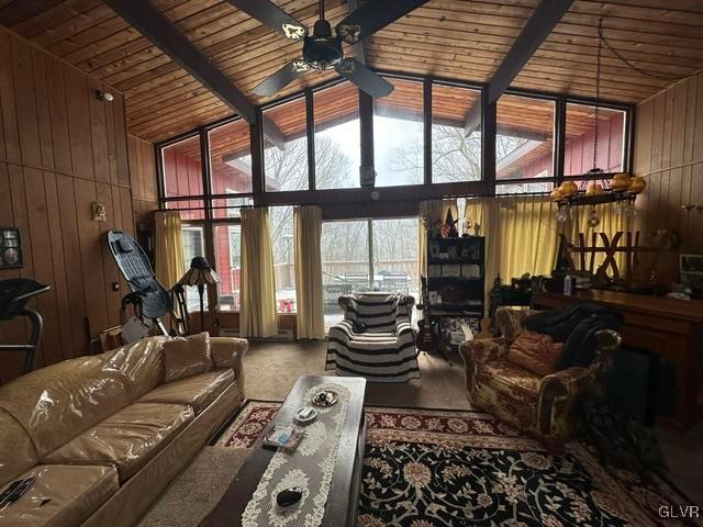
<svg viewBox="0 0 703 527">
<path fill-rule="evenodd" d="M 138 527 L 196 527 L 244 463 L 246 448 L 205 447 L 144 515 Z"/>
</svg>

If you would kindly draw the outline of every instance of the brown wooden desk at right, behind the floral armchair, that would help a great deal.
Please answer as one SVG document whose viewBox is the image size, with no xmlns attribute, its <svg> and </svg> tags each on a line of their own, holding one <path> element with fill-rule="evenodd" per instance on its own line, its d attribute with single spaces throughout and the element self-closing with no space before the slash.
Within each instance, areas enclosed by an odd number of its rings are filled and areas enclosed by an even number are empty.
<svg viewBox="0 0 703 527">
<path fill-rule="evenodd" d="M 535 309 L 561 307 L 573 302 L 595 303 L 625 317 L 623 343 L 654 351 L 673 362 L 676 403 L 673 414 L 662 421 L 687 429 L 703 418 L 699 403 L 703 384 L 703 301 L 645 296 L 615 291 L 577 291 L 573 296 L 535 293 Z"/>
</svg>

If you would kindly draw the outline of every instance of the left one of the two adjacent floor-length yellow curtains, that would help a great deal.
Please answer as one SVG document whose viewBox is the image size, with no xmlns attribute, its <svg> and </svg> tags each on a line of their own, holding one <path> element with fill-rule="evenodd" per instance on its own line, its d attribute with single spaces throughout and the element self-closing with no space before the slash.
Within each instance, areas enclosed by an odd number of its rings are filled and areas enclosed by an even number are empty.
<svg viewBox="0 0 703 527">
<path fill-rule="evenodd" d="M 241 294 L 239 334 L 243 337 L 276 335 L 276 283 L 268 209 L 242 210 Z"/>
</svg>

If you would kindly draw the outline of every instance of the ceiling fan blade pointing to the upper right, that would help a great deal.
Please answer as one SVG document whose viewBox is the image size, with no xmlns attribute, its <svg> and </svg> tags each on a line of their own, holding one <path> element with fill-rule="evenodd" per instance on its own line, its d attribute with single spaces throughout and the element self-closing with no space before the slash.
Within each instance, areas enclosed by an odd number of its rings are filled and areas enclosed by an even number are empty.
<svg viewBox="0 0 703 527">
<path fill-rule="evenodd" d="M 372 0 L 359 5 L 336 26 L 347 44 L 356 44 L 428 0 Z"/>
</svg>

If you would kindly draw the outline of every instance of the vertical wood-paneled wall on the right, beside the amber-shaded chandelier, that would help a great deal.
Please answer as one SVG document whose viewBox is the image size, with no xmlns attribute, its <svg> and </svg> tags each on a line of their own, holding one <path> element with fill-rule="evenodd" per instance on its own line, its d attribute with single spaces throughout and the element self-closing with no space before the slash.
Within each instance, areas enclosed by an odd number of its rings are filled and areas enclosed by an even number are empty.
<svg viewBox="0 0 703 527">
<path fill-rule="evenodd" d="M 703 74 L 690 77 L 637 106 L 635 173 L 647 189 L 637 199 L 636 227 L 645 236 L 676 231 L 681 247 L 659 256 L 658 280 L 679 279 L 679 253 L 703 254 Z"/>
</svg>

